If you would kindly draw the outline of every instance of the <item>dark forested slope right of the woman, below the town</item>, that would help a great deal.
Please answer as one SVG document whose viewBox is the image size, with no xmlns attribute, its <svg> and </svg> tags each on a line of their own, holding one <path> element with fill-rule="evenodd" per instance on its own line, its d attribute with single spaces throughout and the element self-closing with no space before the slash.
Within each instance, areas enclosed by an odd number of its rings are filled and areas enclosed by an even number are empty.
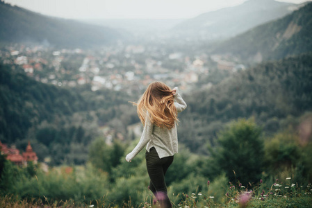
<svg viewBox="0 0 312 208">
<path fill-rule="evenodd" d="M 265 134 L 288 127 L 312 110 L 312 53 L 266 62 L 240 71 L 211 89 L 186 96 L 179 141 L 204 152 L 224 124 L 254 116 Z M 201 151 L 202 150 L 202 151 Z"/>
</svg>

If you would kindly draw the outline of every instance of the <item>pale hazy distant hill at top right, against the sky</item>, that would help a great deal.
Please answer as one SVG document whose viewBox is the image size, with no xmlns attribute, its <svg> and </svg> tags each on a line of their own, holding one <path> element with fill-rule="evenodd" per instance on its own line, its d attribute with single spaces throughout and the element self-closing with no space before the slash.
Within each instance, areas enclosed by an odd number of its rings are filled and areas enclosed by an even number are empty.
<svg viewBox="0 0 312 208">
<path fill-rule="evenodd" d="M 260 24 L 288 15 L 298 6 L 274 0 L 249 0 L 239 6 L 206 12 L 183 21 L 172 31 L 207 39 L 233 37 Z"/>
</svg>

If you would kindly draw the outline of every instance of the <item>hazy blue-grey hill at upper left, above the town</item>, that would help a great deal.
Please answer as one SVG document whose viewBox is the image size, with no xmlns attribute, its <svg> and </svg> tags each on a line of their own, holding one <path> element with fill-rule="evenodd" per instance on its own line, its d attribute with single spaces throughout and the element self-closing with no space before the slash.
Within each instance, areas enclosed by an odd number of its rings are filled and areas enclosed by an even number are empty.
<svg viewBox="0 0 312 208">
<path fill-rule="evenodd" d="M 0 1 L 0 42 L 35 42 L 88 47 L 109 44 L 122 35 L 113 28 L 48 17 Z"/>
</svg>

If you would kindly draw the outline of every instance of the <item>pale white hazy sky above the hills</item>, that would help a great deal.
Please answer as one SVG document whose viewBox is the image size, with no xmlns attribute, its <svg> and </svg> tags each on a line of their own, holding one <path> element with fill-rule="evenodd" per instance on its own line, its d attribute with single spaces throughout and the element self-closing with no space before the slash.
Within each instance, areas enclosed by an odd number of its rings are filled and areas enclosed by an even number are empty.
<svg viewBox="0 0 312 208">
<path fill-rule="evenodd" d="M 192 18 L 203 12 L 237 6 L 246 0 L 5 0 L 7 3 L 40 12 L 43 15 L 69 19 Z M 307 0 L 279 0 L 302 3 Z M 309 0 L 312 1 L 312 0 Z"/>
</svg>

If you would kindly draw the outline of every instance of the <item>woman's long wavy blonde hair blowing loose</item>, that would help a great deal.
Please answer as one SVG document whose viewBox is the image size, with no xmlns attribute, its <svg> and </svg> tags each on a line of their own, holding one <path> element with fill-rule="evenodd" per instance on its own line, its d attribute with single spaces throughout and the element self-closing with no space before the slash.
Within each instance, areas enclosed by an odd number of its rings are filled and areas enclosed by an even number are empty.
<svg viewBox="0 0 312 208">
<path fill-rule="evenodd" d="M 175 126 L 177 117 L 172 89 L 161 82 L 149 84 L 137 105 L 138 116 L 145 125 L 145 118 L 149 112 L 149 120 L 161 128 L 171 129 Z"/>
</svg>

